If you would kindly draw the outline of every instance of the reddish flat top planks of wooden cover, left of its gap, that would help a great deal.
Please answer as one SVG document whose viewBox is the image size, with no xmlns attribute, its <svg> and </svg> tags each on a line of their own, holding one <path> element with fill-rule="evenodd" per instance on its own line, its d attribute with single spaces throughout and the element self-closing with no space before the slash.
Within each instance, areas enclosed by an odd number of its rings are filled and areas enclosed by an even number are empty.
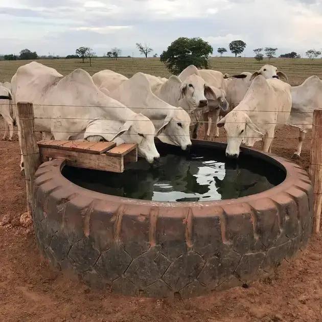
<svg viewBox="0 0 322 322">
<path fill-rule="evenodd" d="M 115 147 L 114 142 L 88 142 L 82 140 L 74 141 L 60 141 L 60 140 L 50 140 L 50 141 L 39 141 L 38 147 L 60 149 L 66 151 L 75 151 L 91 154 L 102 154 L 107 150 Z"/>
</svg>

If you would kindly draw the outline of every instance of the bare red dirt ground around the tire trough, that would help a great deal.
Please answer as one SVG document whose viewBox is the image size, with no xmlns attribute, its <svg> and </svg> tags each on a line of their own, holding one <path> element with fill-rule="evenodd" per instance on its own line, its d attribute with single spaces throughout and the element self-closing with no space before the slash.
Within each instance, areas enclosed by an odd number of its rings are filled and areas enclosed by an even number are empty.
<svg viewBox="0 0 322 322">
<path fill-rule="evenodd" d="M 273 152 L 289 158 L 297 135 L 280 130 Z M 298 162 L 305 169 L 309 146 Z M 322 321 L 320 236 L 272 278 L 189 300 L 118 296 L 66 279 L 41 261 L 32 230 L 19 226 L 26 206 L 18 154 L 17 141 L 0 141 L 0 321 Z"/>
</svg>

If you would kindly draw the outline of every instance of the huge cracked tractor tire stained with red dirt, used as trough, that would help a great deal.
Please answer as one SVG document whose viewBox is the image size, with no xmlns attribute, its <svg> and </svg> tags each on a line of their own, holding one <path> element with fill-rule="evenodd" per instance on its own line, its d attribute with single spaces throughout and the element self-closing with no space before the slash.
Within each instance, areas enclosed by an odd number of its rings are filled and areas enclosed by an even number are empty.
<svg viewBox="0 0 322 322">
<path fill-rule="evenodd" d="M 33 204 L 38 247 L 56 268 L 125 295 L 192 297 L 264 277 L 307 244 L 312 187 L 284 158 L 243 153 L 280 163 L 286 179 L 239 199 L 153 202 L 83 189 L 61 175 L 63 160 L 44 163 Z"/>
</svg>

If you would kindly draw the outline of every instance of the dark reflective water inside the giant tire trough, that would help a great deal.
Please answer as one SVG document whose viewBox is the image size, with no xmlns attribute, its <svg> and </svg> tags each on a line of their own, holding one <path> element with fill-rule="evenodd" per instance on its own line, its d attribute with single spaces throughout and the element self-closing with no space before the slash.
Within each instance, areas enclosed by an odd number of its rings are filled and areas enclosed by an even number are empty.
<svg viewBox="0 0 322 322">
<path fill-rule="evenodd" d="M 190 153 L 158 148 L 158 165 L 145 159 L 123 173 L 64 167 L 76 185 L 97 192 L 154 201 L 211 201 L 244 197 L 268 190 L 285 179 L 279 167 L 252 156 L 228 161 L 222 149 L 195 146 Z"/>
</svg>

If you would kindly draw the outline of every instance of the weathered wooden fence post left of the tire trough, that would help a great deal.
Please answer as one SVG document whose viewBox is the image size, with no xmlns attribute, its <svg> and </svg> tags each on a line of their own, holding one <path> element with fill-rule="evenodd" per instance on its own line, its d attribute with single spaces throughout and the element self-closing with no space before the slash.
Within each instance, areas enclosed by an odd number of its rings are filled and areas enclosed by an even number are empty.
<svg viewBox="0 0 322 322">
<path fill-rule="evenodd" d="M 27 211 L 32 211 L 33 183 L 35 172 L 40 165 L 39 149 L 35 136 L 34 108 L 31 103 L 17 103 L 18 136 L 24 168 L 27 190 Z"/>
</svg>

